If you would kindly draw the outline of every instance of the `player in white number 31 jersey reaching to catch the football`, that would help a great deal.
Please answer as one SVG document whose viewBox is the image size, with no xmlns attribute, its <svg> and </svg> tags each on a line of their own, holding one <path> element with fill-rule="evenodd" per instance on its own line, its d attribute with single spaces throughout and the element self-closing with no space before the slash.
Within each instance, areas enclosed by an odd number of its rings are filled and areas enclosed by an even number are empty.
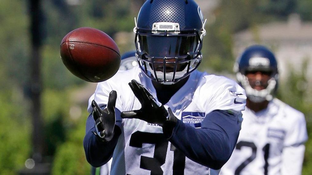
<svg viewBox="0 0 312 175">
<path fill-rule="evenodd" d="M 209 174 L 230 158 L 244 89 L 197 71 L 205 20 L 193 0 L 147 0 L 135 20 L 139 67 L 98 83 L 84 149 L 111 174 Z"/>
</svg>

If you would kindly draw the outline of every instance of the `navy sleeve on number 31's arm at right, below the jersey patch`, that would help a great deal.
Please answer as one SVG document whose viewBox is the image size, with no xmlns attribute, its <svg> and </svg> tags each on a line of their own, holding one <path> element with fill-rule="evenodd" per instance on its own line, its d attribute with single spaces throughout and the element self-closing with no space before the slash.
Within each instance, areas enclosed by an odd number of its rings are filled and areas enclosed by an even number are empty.
<svg viewBox="0 0 312 175">
<path fill-rule="evenodd" d="M 220 169 L 230 158 L 240 131 L 237 114 L 215 110 L 207 114 L 201 128 L 177 120 L 168 140 L 189 159 L 212 169 Z"/>
</svg>

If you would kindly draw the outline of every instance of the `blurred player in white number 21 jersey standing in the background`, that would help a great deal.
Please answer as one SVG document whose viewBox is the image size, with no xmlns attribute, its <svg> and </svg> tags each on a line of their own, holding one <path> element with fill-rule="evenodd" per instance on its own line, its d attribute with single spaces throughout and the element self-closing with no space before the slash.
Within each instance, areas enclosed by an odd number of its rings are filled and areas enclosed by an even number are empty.
<svg viewBox="0 0 312 175">
<path fill-rule="evenodd" d="M 301 174 L 308 139 L 305 116 L 273 97 L 278 84 L 274 54 L 252 45 L 234 68 L 246 90 L 246 109 L 236 148 L 220 174 Z"/>
</svg>

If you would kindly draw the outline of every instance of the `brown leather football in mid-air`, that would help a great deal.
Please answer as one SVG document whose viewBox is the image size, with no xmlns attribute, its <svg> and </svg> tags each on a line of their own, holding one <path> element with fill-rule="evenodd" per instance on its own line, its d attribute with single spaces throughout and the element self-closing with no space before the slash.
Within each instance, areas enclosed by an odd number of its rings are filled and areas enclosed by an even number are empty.
<svg viewBox="0 0 312 175">
<path fill-rule="evenodd" d="M 69 32 L 62 39 L 60 53 L 67 69 L 88 82 L 108 80 L 120 66 L 115 41 L 103 31 L 90 27 Z"/>
</svg>

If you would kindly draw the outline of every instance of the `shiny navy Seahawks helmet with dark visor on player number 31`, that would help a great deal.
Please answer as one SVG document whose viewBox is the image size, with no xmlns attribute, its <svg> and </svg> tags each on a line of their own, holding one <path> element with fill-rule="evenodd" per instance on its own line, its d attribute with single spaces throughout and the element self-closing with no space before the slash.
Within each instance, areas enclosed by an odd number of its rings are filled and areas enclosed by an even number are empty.
<svg viewBox="0 0 312 175">
<path fill-rule="evenodd" d="M 147 0 L 134 20 L 136 57 L 149 78 L 173 84 L 199 66 L 206 20 L 193 0 Z"/>
</svg>

